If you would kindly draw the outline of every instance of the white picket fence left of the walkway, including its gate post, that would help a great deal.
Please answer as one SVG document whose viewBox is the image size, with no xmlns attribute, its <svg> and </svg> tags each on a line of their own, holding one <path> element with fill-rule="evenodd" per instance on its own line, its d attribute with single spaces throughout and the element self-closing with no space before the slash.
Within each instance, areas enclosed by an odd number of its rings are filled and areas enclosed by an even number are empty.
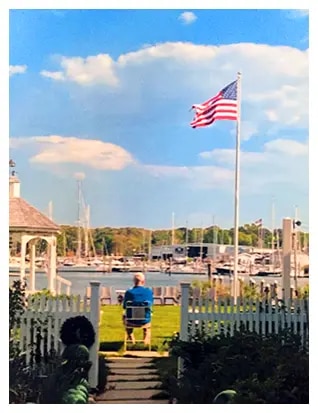
<svg viewBox="0 0 318 413">
<path fill-rule="evenodd" d="M 54 350 L 60 354 L 63 345 L 60 341 L 60 329 L 65 320 L 79 315 L 87 317 L 95 330 L 95 343 L 90 348 L 89 383 L 92 388 L 98 384 L 98 349 L 99 349 L 99 318 L 100 318 L 100 282 L 92 281 L 90 300 L 80 296 L 73 297 L 38 297 L 27 299 L 27 308 L 21 315 L 19 328 L 20 349 L 26 353 L 26 361 L 30 362 L 32 347 L 36 334 L 43 337 L 40 341 L 41 355 L 50 354 Z"/>
</svg>

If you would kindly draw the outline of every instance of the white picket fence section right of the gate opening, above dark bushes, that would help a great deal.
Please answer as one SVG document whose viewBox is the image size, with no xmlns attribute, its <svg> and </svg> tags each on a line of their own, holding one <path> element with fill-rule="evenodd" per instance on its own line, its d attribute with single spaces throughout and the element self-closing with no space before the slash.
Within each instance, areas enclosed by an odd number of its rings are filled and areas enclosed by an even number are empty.
<svg viewBox="0 0 318 413">
<path fill-rule="evenodd" d="M 290 299 L 282 302 L 277 297 L 249 300 L 227 299 L 210 293 L 191 294 L 190 283 L 181 283 L 180 338 L 189 341 L 196 332 L 214 336 L 233 335 L 242 326 L 259 334 L 278 333 L 289 328 L 307 342 L 309 331 L 308 300 Z"/>
</svg>

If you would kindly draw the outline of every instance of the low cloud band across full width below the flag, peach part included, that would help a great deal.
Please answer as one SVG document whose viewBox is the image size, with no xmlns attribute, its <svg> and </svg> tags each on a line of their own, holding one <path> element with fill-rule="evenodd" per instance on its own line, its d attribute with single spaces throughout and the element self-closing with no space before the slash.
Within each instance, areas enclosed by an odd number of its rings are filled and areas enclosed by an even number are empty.
<svg viewBox="0 0 318 413">
<path fill-rule="evenodd" d="M 162 179 L 174 185 L 187 184 L 191 189 L 222 189 L 233 191 L 235 150 L 218 148 L 199 154 L 205 165 L 141 164 L 124 148 L 101 140 L 78 137 L 34 136 L 11 138 L 10 147 L 31 149 L 30 162 L 50 168 L 59 174 L 63 165 L 81 165 L 91 170 L 133 171 Z M 208 163 L 208 164 L 207 164 Z M 76 173 L 78 179 L 85 174 Z M 263 150 L 241 151 L 241 188 L 245 193 L 262 193 L 272 185 L 292 184 L 295 188 L 308 186 L 308 142 L 274 139 Z M 74 171 L 73 171 L 74 175 Z"/>
</svg>

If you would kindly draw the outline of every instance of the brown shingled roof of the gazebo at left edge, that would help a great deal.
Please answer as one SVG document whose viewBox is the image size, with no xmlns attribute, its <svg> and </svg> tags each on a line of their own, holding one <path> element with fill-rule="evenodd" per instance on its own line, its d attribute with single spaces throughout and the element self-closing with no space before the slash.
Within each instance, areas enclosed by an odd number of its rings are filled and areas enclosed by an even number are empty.
<svg viewBox="0 0 318 413">
<path fill-rule="evenodd" d="M 10 229 L 24 229 L 35 231 L 58 232 L 56 225 L 42 212 L 26 202 L 23 198 L 13 197 L 9 199 L 9 226 Z"/>
</svg>

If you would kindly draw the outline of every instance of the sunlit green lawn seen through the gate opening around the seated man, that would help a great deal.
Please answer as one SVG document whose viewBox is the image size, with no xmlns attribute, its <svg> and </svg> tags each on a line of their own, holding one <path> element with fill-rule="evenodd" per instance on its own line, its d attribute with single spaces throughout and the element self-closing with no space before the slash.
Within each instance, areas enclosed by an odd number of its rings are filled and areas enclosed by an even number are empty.
<svg viewBox="0 0 318 413">
<path fill-rule="evenodd" d="M 120 351 L 124 343 L 123 309 L 119 305 L 104 305 L 101 311 L 100 351 Z M 180 307 L 155 305 L 151 324 L 152 349 L 158 351 L 167 349 L 164 341 L 180 330 Z M 137 340 L 142 338 L 141 329 L 135 329 L 134 334 Z M 129 348 L 136 349 L 136 346 Z"/>
</svg>

